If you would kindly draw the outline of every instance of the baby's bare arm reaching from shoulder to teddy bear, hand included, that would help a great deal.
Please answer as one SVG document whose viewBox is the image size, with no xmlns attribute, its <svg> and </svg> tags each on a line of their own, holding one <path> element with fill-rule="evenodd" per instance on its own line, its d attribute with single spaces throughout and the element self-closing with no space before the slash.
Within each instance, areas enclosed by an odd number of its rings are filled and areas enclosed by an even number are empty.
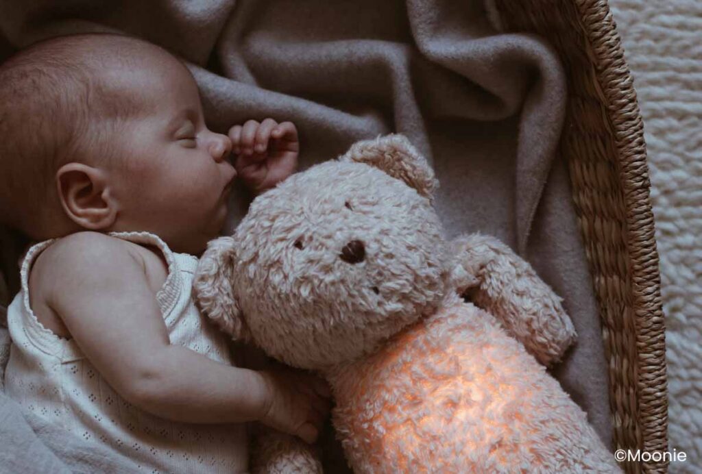
<svg viewBox="0 0 702 474">
<path fill-rule="evenodd" d="M 174 421 L 260 420 L 308 442 L 317 438 L 326 402 L 307 388 L 311 378 L 230 367 L 170 344 L 145 266 L 126 243 L 83 232 L 52 247 L 44 264 L 62 278 L 46 301 L 125 400 Z"/>
</svg>

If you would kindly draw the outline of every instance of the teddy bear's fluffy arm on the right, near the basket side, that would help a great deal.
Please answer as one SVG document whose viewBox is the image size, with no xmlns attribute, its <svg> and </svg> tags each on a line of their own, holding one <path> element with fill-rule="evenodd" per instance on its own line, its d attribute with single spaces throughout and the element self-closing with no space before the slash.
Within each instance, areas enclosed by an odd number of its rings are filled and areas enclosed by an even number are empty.
<svg viewBox="0 0 702 474">
<path fill-rule="evenodd" d="M 531 265 L 491 236 L 474 233 L 451 245 L 458 258 L 451 274 L 456 290 L 496 316 L 539 362 L 560 360 L 576 332 L 562 299 Z"/>
</svg>

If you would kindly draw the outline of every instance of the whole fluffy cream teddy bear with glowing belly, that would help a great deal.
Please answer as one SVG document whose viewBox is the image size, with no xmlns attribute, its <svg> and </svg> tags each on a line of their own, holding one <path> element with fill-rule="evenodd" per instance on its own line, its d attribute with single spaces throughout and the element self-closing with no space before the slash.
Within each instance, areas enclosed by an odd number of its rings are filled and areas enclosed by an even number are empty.
<svg viewBox="0 0 702 474">
<path fill-rule="evenodd" d="M 326 377 L 357 472 L 618 472 L 545 370 L 575 338 L 559 297 L 495 238 L 446 242 L 436 188 L 401 135 L 359 142 L 212 241 L 197 302 Z"/>
</svg>

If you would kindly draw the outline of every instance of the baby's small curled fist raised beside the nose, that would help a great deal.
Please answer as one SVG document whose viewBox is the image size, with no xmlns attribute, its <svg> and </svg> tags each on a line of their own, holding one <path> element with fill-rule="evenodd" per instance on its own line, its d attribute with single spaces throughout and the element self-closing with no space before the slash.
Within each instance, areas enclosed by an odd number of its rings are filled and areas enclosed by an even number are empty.
<svg viewBox="0 0 702 474">
<path fill-rule="evenodd" d="M 291 122 L 249 120 L 230 128 L 229 137 L 236 155 L 234 168 L 253 191 L 274 187 L 298 165 L 298 129 Z"/>
</svg>

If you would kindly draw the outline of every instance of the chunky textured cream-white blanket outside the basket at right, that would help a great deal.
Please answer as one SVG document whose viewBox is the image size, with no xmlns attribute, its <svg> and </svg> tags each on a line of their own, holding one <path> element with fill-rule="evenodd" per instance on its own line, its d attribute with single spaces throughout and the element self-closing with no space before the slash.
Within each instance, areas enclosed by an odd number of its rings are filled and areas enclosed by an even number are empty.
<svg viewBox="0 0 702 474">
<path fill-rule="evenodd" d="M 645 123 L 667 319 L 672 473 L 702 466 L 702 2 L 609 0 Z"/>
</svg>

